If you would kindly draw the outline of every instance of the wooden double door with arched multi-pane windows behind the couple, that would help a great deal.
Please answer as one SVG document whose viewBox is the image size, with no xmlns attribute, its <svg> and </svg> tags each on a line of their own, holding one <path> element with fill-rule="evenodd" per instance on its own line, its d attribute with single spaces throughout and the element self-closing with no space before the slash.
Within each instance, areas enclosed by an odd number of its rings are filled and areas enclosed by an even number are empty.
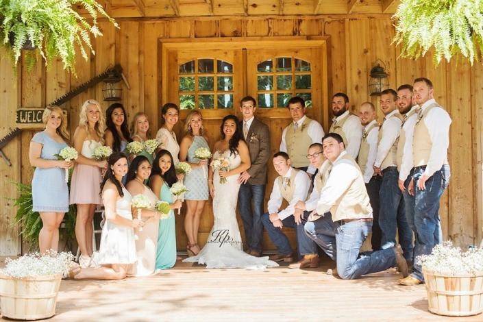
<svg viewBox="0 0 483 322">
<path fill-rule="evenodd" d="M 174 102 L 180 107 L 176 131 L 179 140 L 190 110 L 199 109 L 210 145 L 221 137 L 221 120 L 228 114 L 241 117 L 240 99 L 250 95 L 257 100 L 256 116 L 269 125 L 271 152 L 279 150 L 282 130 L 291 121 L 285 108 L 290 97 L 306 100 L 308 115 L 327 120 L 326 40 L 304 38 L 230 38 L 228 40 L 162 40 L 162 96 L 160 106 Z M 269 177 L 264 210 L 276 177 L 269 161 Z M 199 244 L 204 245 L 213 225 L 211 199 L 206 203 L 199 227 Z M 243 224 L 238 216 L 240 232 Z M 187 244 L 184 214 L 176 219 L 177 248 Z M 295 232 L 286 230 L 290 242 Z M 264 249 L 274 250 L 266 233 Z"/>
</svg>

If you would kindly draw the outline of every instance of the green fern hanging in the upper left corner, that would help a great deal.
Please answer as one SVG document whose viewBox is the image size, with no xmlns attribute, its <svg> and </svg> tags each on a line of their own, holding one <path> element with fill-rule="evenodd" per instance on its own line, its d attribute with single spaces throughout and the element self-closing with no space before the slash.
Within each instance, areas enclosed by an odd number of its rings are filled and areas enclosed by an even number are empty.
<svg viewBox="0 0 483 322">
<path fill-rule="evenodd" d="M 77 8 L 86 10 L 92 22 L 79 14 Z M 36 63 L 36 53 L 40 53 L 47 65 L 59 56 L 64 69 L 75 73 L 77 50 L 87 60 L 88 51 L 94 53 L 90 35 L 102 36 L 97 27 L 99 14 L 118 27 L 95 0 L 0 0 L 1 43 L 14 64 L 27 45 L 34 48 L 26 53 L 28 67 Z"/>
</svg>

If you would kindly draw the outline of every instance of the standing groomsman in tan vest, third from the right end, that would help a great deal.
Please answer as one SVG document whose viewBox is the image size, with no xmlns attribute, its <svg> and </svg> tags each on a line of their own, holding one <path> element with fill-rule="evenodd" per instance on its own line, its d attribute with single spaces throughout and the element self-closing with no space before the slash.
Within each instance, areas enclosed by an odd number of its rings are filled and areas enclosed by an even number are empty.
<svg viewBox="0 0 483 322">
<path fill-rule="evenodd" d="M 377 139 L 377 153 L 374 161 L 374 172 L 382 175 L 379 190 L 380 212 L 379 225 L 382 231 L 381 248 L 386 249 L 396 244 L 396 233 L 404 251 L 404 258 L 412 260 L 412 230 L 404 212 L 404 200 L 397 186 L 397 143 L 401 132 L 403 116 L 396 106 L 397 92 L 393 89 L 381 92 L 381 110 L 384 121 Z"/>
</svg>

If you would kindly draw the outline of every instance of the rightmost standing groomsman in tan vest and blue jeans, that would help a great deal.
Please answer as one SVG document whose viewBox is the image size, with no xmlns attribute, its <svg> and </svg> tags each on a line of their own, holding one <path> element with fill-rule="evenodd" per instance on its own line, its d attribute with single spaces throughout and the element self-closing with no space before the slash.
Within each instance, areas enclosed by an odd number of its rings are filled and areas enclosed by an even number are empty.
<svg viewBox="0 0 483 322">
<path fill-rule="evenodd" d="M 420 106 L 412 135 L 414 174 L 409 189 L 414 188 L 414 258 L 431 253 L 439 222 L 439 201 L 449 184 L 449 125 L 451 117 L 434 100 L 430 79 L 414 79 L 414 100 Z M 414 262 L 412 274 L 398 281 L 402 285 L 424 282 L 421 265 Z"/>
</svg>

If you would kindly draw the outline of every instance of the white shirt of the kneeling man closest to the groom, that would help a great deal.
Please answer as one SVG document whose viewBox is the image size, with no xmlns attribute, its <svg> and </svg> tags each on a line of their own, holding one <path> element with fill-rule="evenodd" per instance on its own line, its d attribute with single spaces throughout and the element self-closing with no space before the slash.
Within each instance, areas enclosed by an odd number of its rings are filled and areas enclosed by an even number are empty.
<svg viewBox="0 0 483 322">
<path fill-rule="evenodd" d="M 290 167 L 287 173 L 285 173 L 284 177 L 290 178 L 292 175 L 293 168 Z M 308 195 L 308 189 L 310 188 L 310 179 L 304 171 L 299 171 L 297 175 L 295 175 L 295 182 L 290 182 L 290 184 L 295 184 L 295 190 L 293 192 L 292 200 L 288 203 L 287 208 L 284 210 L 280 210 L 280 206 L 282 206 L 282 201 L 284 197 L 280 193 L 280 188 L 277 183 L 277 179 L 273 182 L 272 193 L 270 195 L 270 200 L 268 204 L 269 214 L 273 214 L 275 212 L 278 213 L 278 217 L 280 220 L 286 219 L 288 216 L 292 216 L 295 212 L 295 203 L 299 201 L 304 201 Z M 279 212 L 280 210 L 280 212 Z"/>
</svg>

